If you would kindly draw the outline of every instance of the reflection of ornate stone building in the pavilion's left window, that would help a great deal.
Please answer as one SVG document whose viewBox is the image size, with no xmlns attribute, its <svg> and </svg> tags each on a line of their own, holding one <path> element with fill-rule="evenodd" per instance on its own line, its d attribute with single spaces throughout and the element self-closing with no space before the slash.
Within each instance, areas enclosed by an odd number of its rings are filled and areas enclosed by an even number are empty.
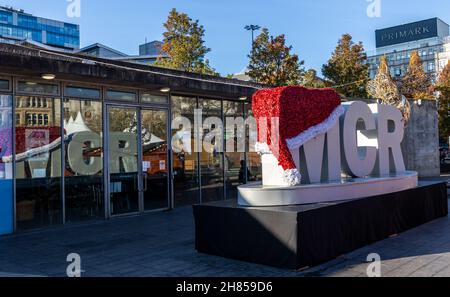
<svg viewBox="0 0 450 297">
<path fill-rule="evenodd" d="M 15 103 L 16 125 L 26 127 L 53 126 L 55 105 L 52 98 L 17 96 Z"/>
</svg>

